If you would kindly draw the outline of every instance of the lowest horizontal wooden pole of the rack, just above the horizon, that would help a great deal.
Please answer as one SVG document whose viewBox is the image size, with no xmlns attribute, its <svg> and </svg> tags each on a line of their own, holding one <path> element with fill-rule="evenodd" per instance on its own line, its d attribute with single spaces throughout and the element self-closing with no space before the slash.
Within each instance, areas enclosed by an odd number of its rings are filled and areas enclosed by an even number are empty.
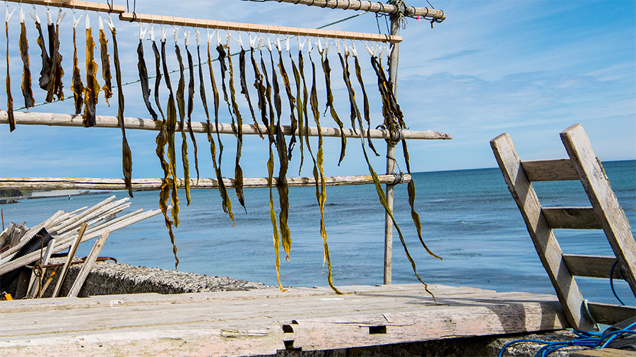
<svg viewBox="0 0 636 357">
<path fill-rule="evenodd" d="M 379 175 L 380 183 L 395 183 L 394 175 Z M 330 176 L 324 178 L 327 186 L 369 185 L 373 183 L 371 176 Z M 402 176 L 401 182 L 411 181 L 411 175 Z M 233 178 L 223 178 L 225 187 L 234 187 Z M 163 178 L 136 178 L 132 180 L 133 190 L 158 190 Z M 184 188 L 183 178 L 177 178 L 177 187 Z M 314 186 L 313 177 L 288 177 L 289 186 Z M 276 186 L 276 178 L 273 178 Z M 243 178 L 243 188 L 264 188 L 267 178 Z M 126 190 L 123 178 L 73 178 L 73 177 L 0 177 L 0 188 L 15 189 L 30 188 L 34 190 Z M 190 188 L 218 188 L 216 178 L 190 179 Z"/>
</svg>

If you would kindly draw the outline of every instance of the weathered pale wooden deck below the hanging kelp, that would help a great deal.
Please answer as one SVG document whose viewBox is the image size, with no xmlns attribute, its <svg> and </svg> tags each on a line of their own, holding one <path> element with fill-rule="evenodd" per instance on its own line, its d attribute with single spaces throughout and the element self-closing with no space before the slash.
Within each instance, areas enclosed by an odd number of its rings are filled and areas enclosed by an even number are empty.
<svg viewBox="0 0 636 357">
<path fill-rule="evenodd" d="M 421 284 L 0 302 L 3 356 L 250 356 L 568 327 L 556 296 Z"/>
</svg>

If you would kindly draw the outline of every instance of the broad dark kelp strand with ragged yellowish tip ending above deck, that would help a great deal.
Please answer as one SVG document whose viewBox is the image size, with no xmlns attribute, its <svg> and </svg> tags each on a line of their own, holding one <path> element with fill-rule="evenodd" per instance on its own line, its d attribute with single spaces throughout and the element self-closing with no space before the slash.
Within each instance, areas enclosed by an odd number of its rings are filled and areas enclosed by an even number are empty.
<svg viewBox="0 0 636 357">
<path fill-rule="evenodd" d="M 268 47 L 271 49 L 271 46 Z M 280 52 L 280 51 L 279 51 Z M 281 227 L 281 241 L 283 243 L 283 249 L 285 249 L 286 260 L 289 260 L 289 251 L 291 248 L 291 236 L 287 220 L 289 217 L 289 186 L 287 184 L 287 170 L 289 167 L 289 159 L 287 157 L 287 145 L 285 144 L 285 135 L 283 134 L 283 127 L 281 126 L 281 92 L 278 87 L 278 78 L 276 77 L 276 68 L 274 67 L 273 56 L 271 51 L 269 52 L 269 59 L 271 60 L 271 79 L 273 85 L 273 100 L 274 108 L 276 109 L 276 150 L 278 150 L 278 179 L 276 180 L 276 190 L 278 190 L 278 202 L 281 206 L 281 213 L 279 216 L 279 225 Z M 273 118 L 272 118 L 273 122 Z M 273 163 L 272 163 L 273 164 Z M 278 249 L 278 246 L 276 246 Z"/>
</svg>

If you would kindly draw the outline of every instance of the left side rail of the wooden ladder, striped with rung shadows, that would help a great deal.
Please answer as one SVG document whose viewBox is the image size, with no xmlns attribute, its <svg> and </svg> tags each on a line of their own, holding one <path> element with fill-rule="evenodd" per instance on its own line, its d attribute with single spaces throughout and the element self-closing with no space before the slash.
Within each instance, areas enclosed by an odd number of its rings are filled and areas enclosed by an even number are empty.
<svg viewBox="0 0 636 357">
<path fill-rule="evenodd" d="M 563 251 L 556 240 L 552 229 L 541 214 L 541 203 L 534 188 L 526 177 L 517 150 L 508 134 L 502 134 L 490 140 L 497 164 L 502 171 L 508 190 L 512 193 L 514 202 L 524 217 L 526 228 L 541 259 L 543 267 L 548 272 L 550 282 L 554 286 L 559 301 L 565 310 L 567 320 L 577 329 L 591 330 L 594 324 L 581 313 L 583 296 L 577 282 L 567 269 L 563 260 Z"/>
</svg>

